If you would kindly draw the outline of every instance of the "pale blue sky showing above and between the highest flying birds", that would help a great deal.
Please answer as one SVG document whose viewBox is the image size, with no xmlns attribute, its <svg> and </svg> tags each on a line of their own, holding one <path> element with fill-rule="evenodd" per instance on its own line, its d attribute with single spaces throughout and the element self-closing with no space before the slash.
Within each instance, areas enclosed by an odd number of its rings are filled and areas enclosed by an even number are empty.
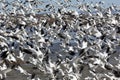
<svg viewBox="0 0 120 80">
<path fill-rule="evenodd" d="M 0 0 L 1 1 L 1 0 Z M 15 1 L 15 0 L 6 0 L 6 1 L 8 1 L 8 2 L 12 2 L 12 1 Z M 21 0 L 21 1 L 25 1 L 25 0 Z M 48 4 L 48 3 L 52 3 L 52 4 L 54 4 L 55 5 L 55 7 L 57 8 L 59 5 L 57 4 L 57 3 L 55 3 L 55 2 L 57 2 L 57 1 L 64 1 L 64 0 L 39 0 L 39 1 L 44 1 L 45 2 L 45 4 L 44 5 L 40 5 L 40 8 L 42 7 L 42 8 L 45 8 L 45 5 L 46 4 Z M 77 2 L 76 2 L 76 0 L 71 0 L 72 1 L 72 5 L 75 5 Z M 80 3 L 93 3 L 93 4 L 95 4 L 95 3 L 97 3 L 97 2 L 100 2 L 100 1 L 103 1 L 104 2 L 104 5 L 103 5 L 103 7 L 109 7 L 110 5 L 112 5 L 112 4 L 114 4 L 114 5 L 117 5 L 117 6 L 119 6 L 119 8 L 120 8 L 120 0 L 79 0 L 80 1 Z M 1 5 L 0 5 L 0 8 L 1 8 Z M 10 7 L 9 7 L 10 8 Z M 69 9 L 73 9 L 73 10 L 76 10 L 76 8 L 69 8 Z M 44 13 L 44 12 L 41 12 L 41 13 Z"/>
</svg>

